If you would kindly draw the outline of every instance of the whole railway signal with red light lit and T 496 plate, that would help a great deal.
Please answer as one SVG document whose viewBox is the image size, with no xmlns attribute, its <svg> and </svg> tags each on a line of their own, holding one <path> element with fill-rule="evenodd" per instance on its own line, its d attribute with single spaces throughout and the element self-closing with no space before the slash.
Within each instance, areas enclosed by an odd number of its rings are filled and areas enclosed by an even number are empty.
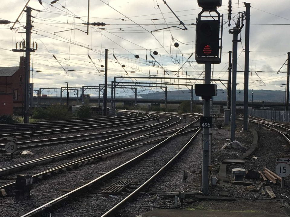
<svg viewBox="0 0 290 217">
<path fill-rule="evenodd" d="M 201 127 L 203 127 L 201 191 L 209 193 L 208 157 L 210 128 L 212 126 L 210 99 L 212 96 L 217 96 L 217 85 L 211 84 L 211 64 L 221 63 L 220 22 L 222 16 L 218 13 L 217 7 L 221 6 L 222 0 L 198 0 L 197 2 L 198 6 L 202 7 L 202 11 L 198 14 L 196 23 L 195 60 L 197 63 L 205 64 L 204 84 L 195 84 L 195 95 L 201 96 L 201 99 L 204 100 L 204 116 L 201 117 Z M 213 13 L 215 14 L 212 15 Z"/>
</svg>

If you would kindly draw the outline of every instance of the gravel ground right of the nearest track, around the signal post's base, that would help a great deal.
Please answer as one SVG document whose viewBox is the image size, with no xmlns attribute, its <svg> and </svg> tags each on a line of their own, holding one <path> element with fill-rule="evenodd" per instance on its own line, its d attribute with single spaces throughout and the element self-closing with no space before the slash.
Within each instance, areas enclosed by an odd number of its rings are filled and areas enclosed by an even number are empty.
<svg viewBox="0 0 290 217">
<path fill-rule="evenodd" d="M 250 131 L 239 131 L 242 126 L 242 122 L 237 121 L 237 130 L 235 137 L 237 141 L 240 141 L 246 149 L 221 149 L 224 143 L 229 143 L 226 140 L 230 138 L 230 131 L 220 130 L 213 131 L 212 142 L 212 160 L 214 169 L 212 176 L 218 176 L 219 162 L 226 158 L 237 158 L 242 155 L 250 146 L 253 140 L 253 135 Z M 231 176 L 232 168 L 245 168 L 254 171 L 262 171 L 264 167 L 275 171 L 276 156 L 283 156 L 284 150 L 281 144 L 285 144 L 285 140 L 277 133 L 266 130 L 265 128 L 258 129 L 256 124 L 252 124 L 250 127 L 256 128 L 258 131 L 259 143 L 258 150 L 254 153 L 257 159 L 250 157 L 245 165 L 233 165 L 227 166 L 227 177 L 233 180 Z M 167 171 L 165 175 L 151 185 L 146 194 L 140 193 L 134 201 L 126 204 L 126 206 L 120 210 L 117 216 L 119 217 L 136 217 L 142 215 L 145 212 L 149 212 L 152 209 L 157 208 L 174 208 L 174 198 L 165 198 L 156 195 L 156 192 L 165 191 L 198 191 L 201 190 L 201 135 L 195 140 L 198 146 L 191 146 L 188 151 L 182 156 L 179 162 L 177 162 L 172 169 Z M 183 171 L 188 171 L 188 179 L 186 183 L 183 181 Z M 258 183 L 255 180 L 247 180 L 254 183 Z M 290 201 L 287 197 L 290 197 L 289 190 L 289 178 L 286 178 L 285 188 L 281 189 L 279 184 L 270 184 L 276 194 L 276 198 Z M 185 199 L 185 203 L 179 203 L 179 209 L 201 209 L 201 210 L 221 210 L 221 211 L 250 211 L 250 212 L 267 212 L 267 213 L 284 213 L 281 203 L 275 200 L 269 200 L 270 196 L 266 193 L 262 195 L 259 192 L 252 192 L 246 189 L 246 186 L 228 184 L 225 187 L 217 185 L 215 187 L 210 185 L 210 191 L 213 196 L 219 196 L 221 191 L 228 191 L 230 196 L 236 197 L 235 202 L 221 202 L 221 201 L 198 201 L 196 199 Z M 266 190 L 265 190 L 266 192 Z"/>
</svg>

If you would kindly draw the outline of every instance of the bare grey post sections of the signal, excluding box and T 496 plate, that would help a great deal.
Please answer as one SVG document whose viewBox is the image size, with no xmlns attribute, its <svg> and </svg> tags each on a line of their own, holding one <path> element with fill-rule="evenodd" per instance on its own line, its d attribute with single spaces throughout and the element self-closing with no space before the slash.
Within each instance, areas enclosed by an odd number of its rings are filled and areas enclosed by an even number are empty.
<svg viewBox="0 0 290 217">
<path fill-rule="evenodd" d="M 211 63 L 205 63 L 205 84 L 211 83 Z M 210 99 L 203 100 L 203 115 L 210 116 Z M 208 151 L 209 151 L 209 128 L 203 128 L 202 141 L 202 193 L 209 193 L 208 189 Z"/>
</svg>

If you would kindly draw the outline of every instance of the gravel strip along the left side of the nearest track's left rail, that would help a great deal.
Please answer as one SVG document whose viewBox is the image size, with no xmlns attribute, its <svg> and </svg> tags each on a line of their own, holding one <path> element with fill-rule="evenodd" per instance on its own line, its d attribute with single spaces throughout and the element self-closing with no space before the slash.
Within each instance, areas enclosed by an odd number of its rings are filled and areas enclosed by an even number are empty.
<svg viewBox="0 0 290 217">
<path fill-rule="evenodd" d="M 80 187 L 102 175 L 102 172 L 110 171 L 111 169 L 127 162 L 128 159 L 132 159 L 143 153 L 154 145 L 156 144 L 146 145 L 139 149 L 133 149 L 128 152 L 120 153 L 107 158 L 104 161 L 79 167 L 73 171 L 65 172 L 52 177 L 49 180 L 37 182 L 32 185 L 31 198 L 29 200 L 25 200 L 25 204 L 23 202 L 15 201 L 14 197 L 1 198 L 1 204 L 13 204 L 13 206 L 12 209 L 11 207 L 6 206 L 1 207 L 0 216 L 18 217 L 20 215 L 24 215 L 26 212 L 65 194 L 65 192 L 58 191 L 58 189 L 75 189 Z M 26 206 L 26 203 L 33 204 L 34 207 Z M 64 215 L 62 215 L 62 217 L 63 216 Z"/>
</svg>

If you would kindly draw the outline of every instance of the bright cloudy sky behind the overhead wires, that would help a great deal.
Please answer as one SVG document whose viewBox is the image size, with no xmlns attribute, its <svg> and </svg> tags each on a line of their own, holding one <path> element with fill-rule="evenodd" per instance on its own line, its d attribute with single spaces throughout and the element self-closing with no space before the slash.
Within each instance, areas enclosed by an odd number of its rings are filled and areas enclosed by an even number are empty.
<svg viewBox="0 0 290 217">
<path fill-rule="evenodd" d="M 176 78 L 203 78 L 204 65 L 195 62 L 195 26 L 192 25 L 201 11 L 197 0 L 166 1 L 187 30 L 180 29 L 183 27 L 163 0 L 91 0 L 89 22 L 106 25 L 90 25 L 88 35 L 85 33 L 87 26 L 82 24 L 87 22 L 88 0 L 59 0 L 53 4 L 51 1 L 41 0 L 41 5 L 39 0 L 30 0 L 28 4 L 35 9 L 32 11 L 34 28 L 31 41 L 38 45 L 38 50 L 31 55 L 33 68 L 30 81 L 34 83 L 34 89 L 60 88 L 66 86 L 63 82 L 69 82 L 69 86 L 74 87 L 104 83 L 102 66 L 105 65 L 106 48 L 109 83 L 114 80 L 114 76 L 152 77 L 150 80 L 123 80 L 127 82 L 163 82 L 153 78 L 164 77 L 164 74 Z M 26 2 L 2 0 L 0 19 L 14 22 Z M 290 52 L 289 1 L 279 0 L 273 4 L 272 0 L 254 0 L 249 3 L 252 6 L 249 89 L 284 90 L 282 84 L 286 83 L 287 70 L 284 63 L 287 52 Z M 239 12 L 245 11 L 242 1 L 232 0 L 232 26 L 229 27 L 227 4 L 228 1 L 223 0 L 223 6 L 218 8 L 224 14 L 224 27 L 222 61 L 221 64 L 214 64 L 212 69 L 215 79 L 227 79 L 228 51 L 232 49 L 229 30 L 234 27 L 237 17 L 241 16 Z M 0 67 L 19 65 L 19 57 L 24 54 L 12 52 L 11 49 L 15 48 L 16 42 L 19 48 L 19 42 L 25 39 L 25 34 L 21 33 L 25 31 L 25 22 L 26 13 L 22 12 L 13 31 L 10 30 L 13 23 L 0 24 Z M 242 40 L 238 43 L 237 70 L 243 71 L 245 28 L 239 38 Z M 178 48 L 174 46 L 175 42 L 179 43 Z M 175 84 L 196 82 L 165 81 Z M 237 89 L 243 89 L 242 72 L 237 73 L 237 83 Z M 221 83 L 217 84 L 219 88 L 225 89 Z M 178 89 L 185 89 L 185 86 L 169 86 L 169 90 Z M 152 91 L 161 89 L 143 88 L 138 93 Z M 129 94 L 130 90 L 127 92 Z"/>
</svg>

